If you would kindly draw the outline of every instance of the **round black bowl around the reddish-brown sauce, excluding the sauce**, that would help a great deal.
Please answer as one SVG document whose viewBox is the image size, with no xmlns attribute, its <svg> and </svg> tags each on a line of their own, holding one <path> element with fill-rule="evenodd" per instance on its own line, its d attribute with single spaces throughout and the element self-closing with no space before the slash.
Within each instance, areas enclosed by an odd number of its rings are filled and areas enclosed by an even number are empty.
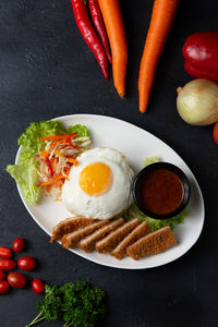
<svg viewBox="0 0 218 327">
<path fill-rule="evenodd" d="M 168 214 L 157 214 L 157 213 L 152 213 L 145 207 L 145 204 L 142 201 L 141 197 L 141 184 L 142 180 L 145 177 L 146 173 L 149 171 L 154 171 L 157 169 L 165 169 L 168 171 L 173 172 L 181 181 L 182 186 L 183 186 L 183 197 L 180 203 L 180 205 L 173 210 Z M 190 182 L 187 180 L 186 174 L 177 166 L 169 164 L 169 162 L 155 162 L 150 164 L 149 166 L 146 166 L 143 168 L 137 175 L 134 179 L 133 182 L 133 198 L 134 202 L 136 203 L 137 207 L 143 211 L 146 216 L 155 218 L 155 219 L 168 219 L 177 216 L 180 214 L 187 205 L 189 199 L 190 199 L 190 194 L 191 194 L 191 189 L 190 189 Z"/>
</svg>

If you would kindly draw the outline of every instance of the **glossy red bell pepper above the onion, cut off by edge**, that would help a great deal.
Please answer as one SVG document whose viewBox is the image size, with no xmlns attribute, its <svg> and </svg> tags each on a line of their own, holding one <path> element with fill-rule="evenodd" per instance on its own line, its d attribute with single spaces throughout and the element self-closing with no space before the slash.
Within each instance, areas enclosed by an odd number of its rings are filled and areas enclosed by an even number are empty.
<svg viewBox="0 0 218 327">
<path fill-rule="evenodd" d="M 182 52 L 184 68 L 191 76 L 218 82 L 218 32 L 191 35 Z"/>
</svg>

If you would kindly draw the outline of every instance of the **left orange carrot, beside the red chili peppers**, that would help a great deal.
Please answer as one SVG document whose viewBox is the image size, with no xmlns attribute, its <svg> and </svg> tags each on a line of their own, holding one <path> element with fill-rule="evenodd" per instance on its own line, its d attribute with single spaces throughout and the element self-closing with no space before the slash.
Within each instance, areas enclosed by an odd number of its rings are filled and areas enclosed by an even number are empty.
<svg viewBox="0 0 218 327">
<path fill-rule="evenodd" d="M 113 84 L 121 97 L 125 95 L 128 46 L 119 0 L 98 0 L 112 52 Z"/>
</svg>

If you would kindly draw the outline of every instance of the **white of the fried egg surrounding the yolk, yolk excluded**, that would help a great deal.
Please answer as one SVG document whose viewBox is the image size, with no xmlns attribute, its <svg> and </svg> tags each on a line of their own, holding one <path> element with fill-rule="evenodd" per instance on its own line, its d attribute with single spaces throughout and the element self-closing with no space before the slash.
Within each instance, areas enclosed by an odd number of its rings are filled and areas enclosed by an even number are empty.
<svg viewBox="0 0 218 327">
<path fill-rule="evenodd" d="M 62 187 L 62 203 L 71 214 L 110 219 L 131 205 L 134 172 L 122 153 L 108 147 L 96 147 L 86 150 L 76 159 L 78 165 L 71 168 L 70 181 L 65 181 Z M 112 184 L 106 193 L 90 196 L 81 189 L 78 179 L 86 166 L 96 162 L 104 162 L 110 168 Z"/>
</svg>

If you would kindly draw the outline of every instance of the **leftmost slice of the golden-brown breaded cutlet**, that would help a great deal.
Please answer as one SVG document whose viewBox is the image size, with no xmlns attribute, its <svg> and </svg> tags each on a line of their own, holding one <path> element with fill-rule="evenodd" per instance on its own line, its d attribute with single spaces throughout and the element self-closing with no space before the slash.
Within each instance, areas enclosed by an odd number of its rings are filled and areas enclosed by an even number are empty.
<svg viewBox="0 0 218 327">
<path fill-rule="evenodd" d="M 57 240 L 61 240 L 64 234 L 75 231 L 78 228 L 88 226 L 94 221 L 94 219 L 88 219 L 82 216 L 66 218 L 52 228 L 52 235 L 50 242 L 52 243 Z"/>
</svg>

